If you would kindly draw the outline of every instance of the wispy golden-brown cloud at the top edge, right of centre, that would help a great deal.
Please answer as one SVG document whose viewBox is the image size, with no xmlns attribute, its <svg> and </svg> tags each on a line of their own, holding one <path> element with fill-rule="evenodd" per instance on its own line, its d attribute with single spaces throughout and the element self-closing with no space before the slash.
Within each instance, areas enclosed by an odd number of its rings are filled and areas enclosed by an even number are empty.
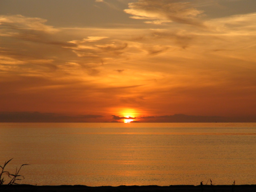
<svg viewBox="0 0 256 192">
<path fill-rule="evenodd" d="M 176 0 L 138 0 L 137 2 L 129 3 L 129 8 L 124 11 L 131 14 L 131 18 L 150 20 L 146 21 L 146 23 L 178 22 L 203 26 L 202 22 L 196 18 L 203 11 L 190 6 L 189 2 L 178 2 Z"/>
</svg>

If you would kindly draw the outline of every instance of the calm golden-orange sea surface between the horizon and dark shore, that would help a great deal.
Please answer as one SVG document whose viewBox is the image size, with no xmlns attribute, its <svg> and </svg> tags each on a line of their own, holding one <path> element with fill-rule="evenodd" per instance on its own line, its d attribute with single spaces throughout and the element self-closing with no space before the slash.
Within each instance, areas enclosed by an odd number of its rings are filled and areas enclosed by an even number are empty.
<svg viewBox="0 0 256 192">
<path fill-rule="evenodd" d="M 0 123 L 0 146 L 22 184 L 256 184 L 256 123 Z"/>
</svg>

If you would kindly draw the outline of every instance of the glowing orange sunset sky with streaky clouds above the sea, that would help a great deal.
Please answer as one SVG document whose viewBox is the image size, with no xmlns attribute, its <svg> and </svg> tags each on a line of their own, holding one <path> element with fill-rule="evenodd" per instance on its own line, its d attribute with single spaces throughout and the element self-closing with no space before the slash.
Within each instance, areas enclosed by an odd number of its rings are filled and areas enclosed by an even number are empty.
<svg viewBox="0 0 256 192">
<path fill-rule="evenodd" d="M 256 122 L 255 0 L 0 0 L 0 122 Z"/>
</svg>

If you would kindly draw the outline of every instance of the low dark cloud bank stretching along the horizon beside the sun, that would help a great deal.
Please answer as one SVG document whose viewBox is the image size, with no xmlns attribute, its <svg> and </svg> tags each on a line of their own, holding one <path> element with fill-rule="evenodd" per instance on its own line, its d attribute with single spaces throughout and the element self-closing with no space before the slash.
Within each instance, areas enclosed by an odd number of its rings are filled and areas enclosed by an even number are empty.
<svg viewBox="0 0 256 192">
<path fill-rule="evenodd" d="M 99 118 L 99 119 L 98 119 Z M 174 114 L 166 116 L 121 117 L 112 115 L 111 122 L 122 119 L 140 119 L 136 122 L 254 122 L 255 116 L 221 117 Z M 102 115 L 62 115 L 42 112 L 0 112 L 0 122 L 106 122 Z"/>
</svg>

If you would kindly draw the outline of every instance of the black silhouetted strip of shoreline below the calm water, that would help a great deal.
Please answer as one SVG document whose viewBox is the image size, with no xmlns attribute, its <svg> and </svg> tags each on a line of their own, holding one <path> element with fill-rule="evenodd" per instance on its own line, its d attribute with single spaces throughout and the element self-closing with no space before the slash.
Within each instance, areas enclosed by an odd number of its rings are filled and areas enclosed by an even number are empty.
<svg viewBox="0 0 256 192">
<path fill-rule="evenodd" d="M 0 192 L 256 192 L 256 185 L 99 186 L 2 185 Z"/>
</svg>

